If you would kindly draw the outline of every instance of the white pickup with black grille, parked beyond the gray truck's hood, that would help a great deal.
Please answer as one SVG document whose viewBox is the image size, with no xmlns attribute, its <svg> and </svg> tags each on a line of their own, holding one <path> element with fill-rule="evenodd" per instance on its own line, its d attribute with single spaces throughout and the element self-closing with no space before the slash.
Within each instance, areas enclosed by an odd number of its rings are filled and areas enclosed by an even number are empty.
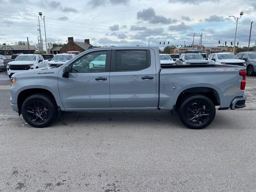
<svg viewBox="0 0 256 192">
<path fill-rule="evenodd" d="M 11 78 L 14 73 L 38 68 L 47 68 L 48 62 L 39 54 L 20 54 L 7 64 L 7 74 Z"/>
</svg>

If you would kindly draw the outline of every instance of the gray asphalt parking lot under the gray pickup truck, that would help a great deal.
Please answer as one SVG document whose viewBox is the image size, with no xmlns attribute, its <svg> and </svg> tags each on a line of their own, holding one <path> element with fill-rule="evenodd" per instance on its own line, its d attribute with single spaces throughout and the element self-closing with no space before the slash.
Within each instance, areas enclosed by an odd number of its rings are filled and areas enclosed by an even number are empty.
<svg viewBox="0 0 256 192">
<path fill-rule="evenodd" d="M 0 191 L 256 190 L 256 76 L 247 107 L 190 130 L 168 111 L 70 112 L 33 128 L 0 72 Z"/>
</svg>

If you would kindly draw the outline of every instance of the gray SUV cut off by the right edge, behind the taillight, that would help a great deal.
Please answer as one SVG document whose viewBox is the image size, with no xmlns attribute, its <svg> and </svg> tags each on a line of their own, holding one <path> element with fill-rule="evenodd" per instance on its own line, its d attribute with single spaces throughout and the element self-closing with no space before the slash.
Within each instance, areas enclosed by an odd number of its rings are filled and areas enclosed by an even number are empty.
<svg viewBox="0 0 256 192">
<path fill-rule="evenodd" d="M 236 56 L 245 61 L 248 76 L 256 74 L 256 52 L 240 52 Z"/>
</svg>

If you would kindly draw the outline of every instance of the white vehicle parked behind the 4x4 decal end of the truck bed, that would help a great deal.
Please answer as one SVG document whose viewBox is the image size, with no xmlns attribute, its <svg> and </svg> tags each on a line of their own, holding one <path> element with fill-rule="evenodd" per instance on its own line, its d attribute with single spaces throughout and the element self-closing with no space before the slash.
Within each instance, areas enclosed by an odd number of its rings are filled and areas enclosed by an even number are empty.
<svg viewBox="0 0 256 192">
<path fill-rule="evenodd" d="M 244 60 L 238 59 L 233 53 L 229 52 L 212 53 L 208 61 L 210 62 L 209 64 L 245 66 Z"/>
</svg>

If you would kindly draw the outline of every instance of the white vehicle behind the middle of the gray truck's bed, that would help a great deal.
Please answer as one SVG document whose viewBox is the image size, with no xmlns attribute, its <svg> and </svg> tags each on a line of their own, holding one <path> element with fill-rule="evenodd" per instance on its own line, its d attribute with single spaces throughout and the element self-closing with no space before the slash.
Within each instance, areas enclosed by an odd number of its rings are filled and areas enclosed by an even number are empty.
<svg viewBox="0 0 256 192">
<path fill-rule="evenodd" d="M 176 65 L 196 65 L 196 64 L 209 64 L 200 53 L 184 53 L 180 55 Z"/>
</svg>

